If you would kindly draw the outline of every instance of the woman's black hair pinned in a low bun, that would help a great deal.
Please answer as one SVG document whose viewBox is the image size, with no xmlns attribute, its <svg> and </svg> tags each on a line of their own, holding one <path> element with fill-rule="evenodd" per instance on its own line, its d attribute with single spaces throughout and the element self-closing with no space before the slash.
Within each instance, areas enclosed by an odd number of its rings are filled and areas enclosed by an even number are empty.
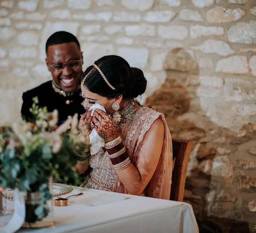
<svg viewBox="0 0 256 233">
<path fill-rule="evenodd" d="M 120 95 L 123 95 L 124 99 L 136 98 L 145 92 L 147 80 L 142 70 L 130 67 L 122 57 L 108 55 L 98 59 L 94 64 L 101 69 L 108 82 L 116 90 L 108 86 L 97 69 L 89 66 L 82 74 L 81 80 L 94 68 L 84 81 L 84 86 L 90 92 L 108 99 L 113 99 Z"/>
</svg>

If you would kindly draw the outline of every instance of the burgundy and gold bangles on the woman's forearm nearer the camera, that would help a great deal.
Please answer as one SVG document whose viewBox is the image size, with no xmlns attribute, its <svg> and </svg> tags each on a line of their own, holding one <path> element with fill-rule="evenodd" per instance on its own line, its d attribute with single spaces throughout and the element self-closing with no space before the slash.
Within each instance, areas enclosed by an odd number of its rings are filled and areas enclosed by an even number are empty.
<svg viewBox="0 0 256 233">
<path fill-rule="evenodd" d="M 110 160 L 115 170 L 122 170 L 131 163 L 120 136 L 105 143 L 105 148 L 108 151 Z"/>
</svg>

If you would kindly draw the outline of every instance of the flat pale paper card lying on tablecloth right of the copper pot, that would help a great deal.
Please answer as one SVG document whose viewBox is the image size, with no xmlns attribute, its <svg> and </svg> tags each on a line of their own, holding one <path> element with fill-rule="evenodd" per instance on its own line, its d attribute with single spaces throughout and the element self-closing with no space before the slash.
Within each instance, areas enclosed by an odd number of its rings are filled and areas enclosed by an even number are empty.
<svg viewBox="0 0 256 233">
<path fill-rule="evenodd" d="M 97 205 L 104 205 L 112 202 L 122 201 L 129 199 L 131 197 L 124 197 L 119 195 L 111 194 L 100 194 L 92 197 L 84 197 L 79 198 L 76 200 L 69 200 L 68 203 L 70 204 L 79 204 L 79 205 L 87 205 L 87 206 L 97 206 Z"/>
</svg>

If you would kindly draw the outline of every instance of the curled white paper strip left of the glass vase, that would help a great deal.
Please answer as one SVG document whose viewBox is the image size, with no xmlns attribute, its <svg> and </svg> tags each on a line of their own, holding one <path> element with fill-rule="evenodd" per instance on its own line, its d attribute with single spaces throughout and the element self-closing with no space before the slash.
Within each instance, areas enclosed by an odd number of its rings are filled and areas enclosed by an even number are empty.
<svg viewBox="0 0 256 233">
<path fill-rule="evenodd" d="M 25 207 L 25 193 L 14 190 L 14 214 L 11 220 L 3 227 L 0 226 L 0 233 L 13 233 L 21 228 L 25 221 L 26 207 Z"/>
</svg>

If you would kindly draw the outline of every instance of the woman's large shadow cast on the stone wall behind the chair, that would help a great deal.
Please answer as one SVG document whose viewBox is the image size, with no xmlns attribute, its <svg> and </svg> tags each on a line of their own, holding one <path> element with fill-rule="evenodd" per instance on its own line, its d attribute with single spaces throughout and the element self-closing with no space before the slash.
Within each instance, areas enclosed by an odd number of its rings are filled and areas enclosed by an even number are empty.
<svg viewBox="0 0 256 233">
<path fill-rule="evenodd" d="M 214 201 L 209 202 L 209 193 L 222 188 L 218 187 L 218 180 L 212 182 L 212 163 L 207 165 L 208 161 L 213 161 L 216 157 L 211 136 L 214 138 L 216 131 L 221 134 L 225 129 L 210 121 L 200 107 L 200 100 L 196 95 L 200 85 L 199 68 L 194 55 L 183 48 L 175 48 L 168 53 L 164 70 L 167 74 L 165 83 L 147 98 L 146 104 L 152 104 L 165 115 L 173 138 L 193 140 L 184 201 L 192 204 L 200 232 L 249 232 L 248 223 L 237 220 L 239 217 L 236 220 L 231 220 L 232 216 L 216 217 L 223 214 L 225 208 L 218 209 Z M 227 177 L 226 182 L 230 182 L 230 179 Z M 234 204 L 236 198 L 232 201 Z M 234 207 L 228 208 L 228 211 L 233 211 L 230 208 Z"/>
</svg>

